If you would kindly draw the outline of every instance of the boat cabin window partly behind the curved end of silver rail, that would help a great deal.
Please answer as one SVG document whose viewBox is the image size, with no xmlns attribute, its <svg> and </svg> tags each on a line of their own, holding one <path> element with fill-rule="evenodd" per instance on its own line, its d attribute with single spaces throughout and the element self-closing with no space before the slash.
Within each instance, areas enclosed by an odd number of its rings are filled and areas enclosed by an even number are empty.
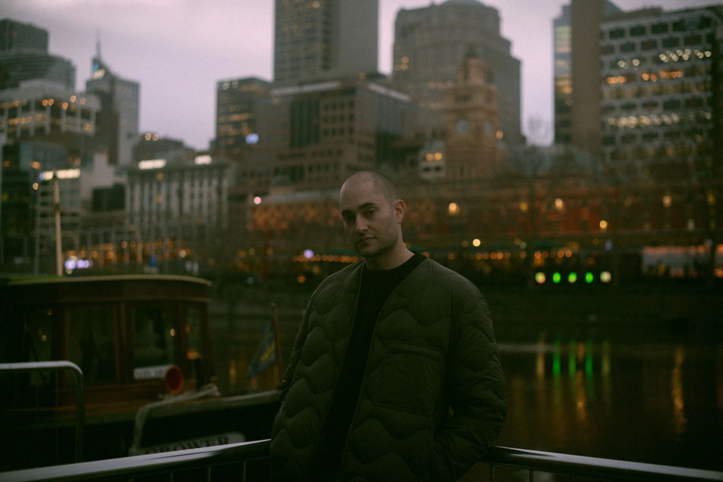
<svg viewBox="0 0 723 482">
<path fill-rule="evenodd" d="M 69 310 L 68 359 L 82 369 L 86 382 L 116 380 L 115 310 L 112 305 Z"/>
</svg>

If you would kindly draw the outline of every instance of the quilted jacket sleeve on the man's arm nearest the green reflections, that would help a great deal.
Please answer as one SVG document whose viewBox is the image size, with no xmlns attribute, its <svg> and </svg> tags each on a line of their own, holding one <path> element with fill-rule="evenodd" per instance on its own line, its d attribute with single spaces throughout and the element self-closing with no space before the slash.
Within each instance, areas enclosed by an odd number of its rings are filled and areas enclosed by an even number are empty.
<svg viewBox="0 0 723 482">
<path fill-rule="evenodd" d="M 456 481 L 482 460 L 507 411 L 505 377 L 487 302 L 473 288 L 452 307 L 452 333 L 442 390 L 453 411 L 435 432 L 438 481 Z"/>
</svg>

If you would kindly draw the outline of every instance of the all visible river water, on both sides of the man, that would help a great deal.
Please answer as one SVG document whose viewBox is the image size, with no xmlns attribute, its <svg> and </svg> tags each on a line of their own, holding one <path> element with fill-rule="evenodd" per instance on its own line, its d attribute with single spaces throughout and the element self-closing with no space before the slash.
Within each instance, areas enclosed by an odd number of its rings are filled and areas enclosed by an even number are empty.
<svg viewBox="0 0 723 482">
<path fill-rule="evenodd" d="M 268 307 L 214 315 L 215 370 L 222 393 L 275 386 L 270 367 L 246 369 Z M 298 307 L 280 310 L 283 353 Z M 508 418 L 497 444 L 664 465 L 723 470 L 723 336 L 695 323 L 495 323 Z"/>
</svg>

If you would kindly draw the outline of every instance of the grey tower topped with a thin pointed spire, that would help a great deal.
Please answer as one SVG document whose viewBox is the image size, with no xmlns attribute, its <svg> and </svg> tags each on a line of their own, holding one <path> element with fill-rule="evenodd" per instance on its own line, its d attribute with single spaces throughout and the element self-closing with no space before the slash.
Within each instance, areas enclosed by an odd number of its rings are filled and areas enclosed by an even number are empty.
<svg viewBox="0 0 723 482">
<path fill-rule="evenodd" d="M 108 163 L 130 165 L 138 137 L 140 84 L 114 74 L 100 58 L 100 45 L 93 57 L 90 77 L 85 89 L 100 97 L 98 136 L 108 146 Z"/>
</svg>

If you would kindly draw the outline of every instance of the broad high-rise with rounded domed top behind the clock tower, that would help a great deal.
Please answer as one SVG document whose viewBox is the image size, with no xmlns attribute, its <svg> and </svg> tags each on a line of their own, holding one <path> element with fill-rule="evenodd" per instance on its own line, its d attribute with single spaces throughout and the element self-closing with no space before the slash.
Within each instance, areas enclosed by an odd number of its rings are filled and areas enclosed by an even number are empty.
<svg viewBox="0 0 723 482">
<path fill-rule="evenodd" d="M 500 35 L 497 9 L 476 0 L 448 0 L 419 9 L 401 9 L 394 27 L 395 88 L 419 105 L 420 125 L 441 137 L 445 90 L 457 79 L 469 45 L 487 64 L 487 82 L 499 89 L 500 130 L 511 144 L 520 131 L 520 61 Z"/>
</svg>

